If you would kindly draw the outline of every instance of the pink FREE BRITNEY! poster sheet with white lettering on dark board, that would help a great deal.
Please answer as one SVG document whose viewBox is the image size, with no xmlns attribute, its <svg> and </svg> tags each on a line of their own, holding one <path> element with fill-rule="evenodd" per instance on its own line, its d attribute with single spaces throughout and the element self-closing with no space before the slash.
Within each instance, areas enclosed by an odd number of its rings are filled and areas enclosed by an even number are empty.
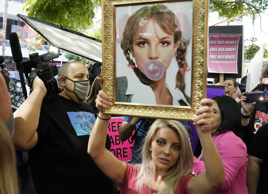
<svg viewBox="0 0 268 194">
<path fill-rule="evenodd" d="M 238 73 L 237 53 L 241 34 L 209 34 L 208 72 Z"/>
</svg>

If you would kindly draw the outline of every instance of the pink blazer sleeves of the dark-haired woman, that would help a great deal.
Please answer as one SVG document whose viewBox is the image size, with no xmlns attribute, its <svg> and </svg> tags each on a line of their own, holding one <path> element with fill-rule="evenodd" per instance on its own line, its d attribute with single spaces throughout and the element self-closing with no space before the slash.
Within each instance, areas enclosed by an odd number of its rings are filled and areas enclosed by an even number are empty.
<svg viewBox="0 0 268 194">
<path fill-rule="evenodd" d="M 225 169 L 225 184 L 219 187 L 220 190 L 224 191 L 230 188 L 238 171 L 245 165 L 245 162 L 247 162 L 247 147 L 232 131 L 214 136 L 213 140 L 222 158 Z M 203 160 L 203 155 L 200 161 L 194 157 L 193 175 L 198 175 L 206 170 Z"/>
</svg>

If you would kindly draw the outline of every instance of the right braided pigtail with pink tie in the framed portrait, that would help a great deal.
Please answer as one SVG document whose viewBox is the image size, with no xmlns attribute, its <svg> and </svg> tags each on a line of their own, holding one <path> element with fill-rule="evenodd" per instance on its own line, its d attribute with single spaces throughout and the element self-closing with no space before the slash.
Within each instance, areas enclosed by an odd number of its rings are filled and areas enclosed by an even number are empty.
<svg viewBox="0 0 268 194">
<path fill-rule="evenodd" d="M 185 99 L 190 103 L 190 97 L 185 94 L 185 77 L 184 71 L 188 71 L 189 68 L 186 62 L 186 50 L 189 45 L 189 41 L 185 39 L 180 40 L 179 47 L 177 48 L 176 60 L 179 66 L 179 70 L 176 75 L 176 88 L 183 93 Z"/>
</svg>

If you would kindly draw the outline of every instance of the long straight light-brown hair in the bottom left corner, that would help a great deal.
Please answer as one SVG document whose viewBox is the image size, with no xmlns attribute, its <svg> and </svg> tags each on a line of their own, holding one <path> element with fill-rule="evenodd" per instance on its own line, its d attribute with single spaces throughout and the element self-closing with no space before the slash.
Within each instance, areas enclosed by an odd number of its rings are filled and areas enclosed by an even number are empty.
<svg viewBox="0 0 268 194">
<path fill-rule="evenodd" d="M 0 193 L 20 193 L 16 162 L 14 142 L 10 131 L 0 119 Z"/>
</svg>

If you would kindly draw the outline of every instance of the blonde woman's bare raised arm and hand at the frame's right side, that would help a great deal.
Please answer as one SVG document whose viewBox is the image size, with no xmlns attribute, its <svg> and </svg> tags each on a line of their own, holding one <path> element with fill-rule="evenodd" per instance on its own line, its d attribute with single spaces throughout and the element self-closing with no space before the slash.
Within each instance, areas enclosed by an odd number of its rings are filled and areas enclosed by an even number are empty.
<svg viewBox="0 0 268 194">
<path fill-rule="evenodd" d="M 204 106 L 196 111 L 196 117 L 192 120 L 202 145 L 206 171 L 189 181 L 188 190 L 192 190 L 189 193 L 213 193 L 225 183 L 223 162 L 211 136 L 211 128 L 215 120 L 214 110 L 211 108 L 213 100 L 202 99 L 201 103 Z"/>
</svg>

